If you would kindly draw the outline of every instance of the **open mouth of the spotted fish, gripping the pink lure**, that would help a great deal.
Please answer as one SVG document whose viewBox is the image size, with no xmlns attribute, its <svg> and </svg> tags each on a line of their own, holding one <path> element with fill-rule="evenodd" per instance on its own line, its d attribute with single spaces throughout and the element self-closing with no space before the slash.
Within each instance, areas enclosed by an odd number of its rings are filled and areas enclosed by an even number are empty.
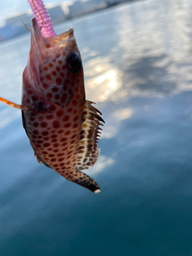
<svg viewBox="0 0 192 256">
<path fill-rule="evenodd" d="M 34 39 L 36 44 L 41 45 L 44 51 L 46 51 L 46 49 L 65 47 L 69 42 L 75 40 L 73 28 L 70 28 L 66 32 L 56 36 L 44 37 L 38 28 L 36 18 L 32 18 L 31 20 L 31 37 Z"/>
</svg>

